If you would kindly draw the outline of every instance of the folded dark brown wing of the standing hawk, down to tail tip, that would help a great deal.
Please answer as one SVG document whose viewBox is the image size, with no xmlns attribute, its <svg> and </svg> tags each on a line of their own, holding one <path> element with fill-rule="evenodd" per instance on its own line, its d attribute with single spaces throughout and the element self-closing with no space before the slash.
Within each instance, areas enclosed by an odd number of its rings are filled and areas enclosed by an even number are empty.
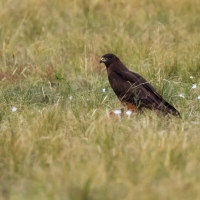
<svg viewBox="0 0 200 200">
<path fill-rule="evenodd" d="M 118 81 L 114 81 L 115 78 Z M 165 114 L 179 116 L 180 113 L 165 101 L 155 89 L 139 74 L 127 70 L 113 72 L 109 81 L 114 92 L 121 101 L 135 103 L 138 107 L 156 109 Z"/>
</svg>

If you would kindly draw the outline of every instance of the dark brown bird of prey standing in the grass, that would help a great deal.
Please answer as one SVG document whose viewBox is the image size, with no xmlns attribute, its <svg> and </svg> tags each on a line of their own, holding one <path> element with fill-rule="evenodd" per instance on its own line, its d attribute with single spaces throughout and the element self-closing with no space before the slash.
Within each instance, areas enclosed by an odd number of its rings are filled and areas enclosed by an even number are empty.
<svg viewBox="0 0 200 200">
<path fill-rule="evenodd" d="M 105 54 L 100 63 L 106 65 L 108 80 L 119 100 L 131 111 L 147 108 L 180 117 L 180 113 L 165 101 L 139 74 L 129 71 L 114 54 Z"/>
</svg>

